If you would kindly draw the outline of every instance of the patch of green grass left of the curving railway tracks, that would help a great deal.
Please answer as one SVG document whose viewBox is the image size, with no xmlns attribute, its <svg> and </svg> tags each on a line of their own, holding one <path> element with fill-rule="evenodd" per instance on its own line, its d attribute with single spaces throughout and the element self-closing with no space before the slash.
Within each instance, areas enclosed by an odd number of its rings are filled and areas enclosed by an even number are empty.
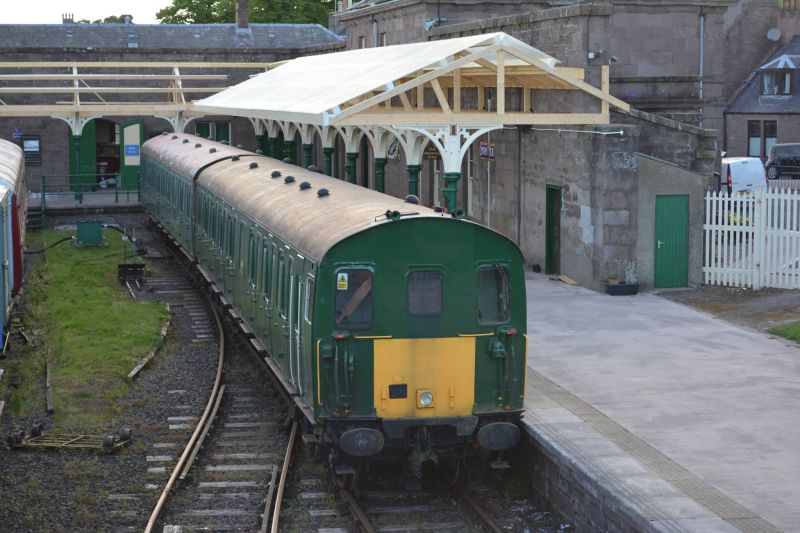
<svg viewBox="0 0 800 533">
<path fill-rule="evenodd" d="M 29 235 L 43 248 L 70 235 L 44 230 Z M 160 302 L 137 302 L 116 279 L 122 236 L 104 230 L 108 246 L 76 248 L 66 242 L 47 250 L 29 276 L 26 323 L 33 325 L 37 353 L 18 368 L 17 394 L 29 398 L 31 379 L 53 361 L 56 421 L 74 429 L 106 426 L 122 411 L 126 376 L 156 346 L 167 312 Z M 128 245 L 130 253 L 130 245 Z M 12 399 L 13 404 L 13 399 Z"/>
</svg>

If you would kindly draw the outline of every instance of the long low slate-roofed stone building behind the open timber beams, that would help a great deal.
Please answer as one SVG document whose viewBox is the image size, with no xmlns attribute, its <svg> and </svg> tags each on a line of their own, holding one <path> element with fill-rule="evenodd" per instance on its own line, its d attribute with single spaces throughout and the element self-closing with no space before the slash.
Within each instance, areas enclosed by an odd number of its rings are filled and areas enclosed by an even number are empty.
<svg viewBox="0 0 800 533">
<path fill-rule="evenodd" d="M 23 66 L 0 69 L 0 76 L 3 76 L 0 85 L 5 91 L 3 105 L 0 105 L 0 138 L 24 139 L 29 146 L 38 145 L 37 153 L 28 153 L 32 189 L 38 190 L 42 176 L 50 176 L 50 182 L 61 182 L 64 176 L 82 174 L 83 181 L 93 181 L 98 179 L 94 174 L 123 170 L 120 136 L 127 125 L 140 124 L 138 131 L 142 140 L 175 127 L 166 114 L 162 118 L 142 113 L 103 115 L 85 124 L 82 123 L 85 119 L 80 119 L 80 127 L 76 128 L 76 123 L 68 116 L 59 119 L 52 118 L 46 111 L 40 113 L 41 116 L 26 116 L 24 110 L 13 114 L 8 111 L 14 106 L 60 104 L 64 107 L 70 102 L 72 96 L 68 94 L 36 92 L 45 86 L 80 83 L 143 87 L 140 93 L 82 92 L 79 97 L 81 104 L 163 103 L 169 93 L 145 91 L 167 82 L 149 82 L 148 77 L 168 77 L 175 72 L 173 65 L 183 65 L 179 81 L 184 87 L 221 89 L 262 72 L 268 63 L 343 46 L 340 37 L 317 24 L 249 24 L 246 11 L 238 15 L 236 24 L 74 24 L 66 20 L 60 25 L 0 25 L 0 60 Z M 60 76 L 58 80 L 13 79 L 32 72 L 25 67 L 45 61 L 64 62 L 61 66 L 51 65 L 35 71 L 50 77 Z M 78 74 L 69 78 L 73 62 L 78 64 Z M 97 65 L 90 65 L 92 63 Z M 132 64 L 141 68 L 130 68 Z M 190 66 L 192 64 L 199 68 Z M 231 64 L 238 66 L 231 67 Z M 117 78 L 113 79 L 115 75 Z M 198 75 L 220 79 L 191 80 Z M 103 76 L 102 80 L 97 78 Z M 28 89 L 13 92 L 20 86 Z M 182 94 L 191 100 L 207 96 L 208 92 L 192 92 L 185 88 Z M 187 132 L 255 149 L 253 127 L 245 119 L 186 118 Z M 135 184 L 135 180 L 130 179 L 128 183 Z"/>
</svg>

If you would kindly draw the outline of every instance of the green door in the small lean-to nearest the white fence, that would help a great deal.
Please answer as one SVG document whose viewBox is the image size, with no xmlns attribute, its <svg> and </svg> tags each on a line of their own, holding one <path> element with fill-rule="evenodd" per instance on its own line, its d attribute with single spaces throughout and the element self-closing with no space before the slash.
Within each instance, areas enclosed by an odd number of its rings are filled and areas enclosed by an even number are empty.
<svg viewBox="0 0 800 533">
<path fill-rule="evenodd" d="M 655 286 L 689 284 L 689 195 L 656 196 Z"/>
</svg>

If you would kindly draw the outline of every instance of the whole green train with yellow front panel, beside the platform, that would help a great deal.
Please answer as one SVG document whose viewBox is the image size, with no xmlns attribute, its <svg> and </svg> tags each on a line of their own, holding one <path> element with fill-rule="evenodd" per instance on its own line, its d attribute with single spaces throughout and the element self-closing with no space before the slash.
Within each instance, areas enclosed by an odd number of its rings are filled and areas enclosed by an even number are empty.
<svg viewBox="0 0 800 533">
<path fill-rule="evenodd" d="M 525 283 L 508 238 L 185 134 L 144 144 L 141 194 L 339 471 L 402 458 L 418 479 L 519 440 Z"/>
</svg>

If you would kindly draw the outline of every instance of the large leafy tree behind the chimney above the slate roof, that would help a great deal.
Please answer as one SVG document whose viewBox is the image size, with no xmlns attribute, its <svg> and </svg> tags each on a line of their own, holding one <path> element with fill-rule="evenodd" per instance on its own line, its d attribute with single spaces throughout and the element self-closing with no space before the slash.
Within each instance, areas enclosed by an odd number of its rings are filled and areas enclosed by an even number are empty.
<svg viewBox="0 0 800 533">
<path fill-rule="evenodd" d="M 250 22 L 326 25 L 333 0 L 250 0 Z M 236 21 L 236 0 L 172 0 L 156 13 L 162 24 L 221 24 Z"/>
</svg>

